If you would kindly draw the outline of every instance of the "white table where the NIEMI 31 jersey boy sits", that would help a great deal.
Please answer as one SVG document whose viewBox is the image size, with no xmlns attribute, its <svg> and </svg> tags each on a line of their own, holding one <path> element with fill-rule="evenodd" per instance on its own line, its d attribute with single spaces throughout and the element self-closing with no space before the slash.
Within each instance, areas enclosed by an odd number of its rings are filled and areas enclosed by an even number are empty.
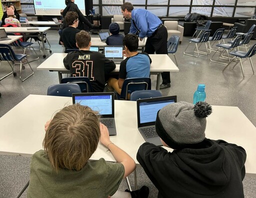
<svg viewBox="0 0 256 198">
<path fill-rule="evenodd" d="M 62 78 L 62 73 L 69 73 L 63 65 L 63 58 L 67 53 L 53 53 L 46 60 L 44 60 L 38 67 L 38 70 L 51 70 L 58 72 L 59 83 Z M 150 65 L 150 74 L 156 74 L 156 90 L 159 89 L 161 72 L 163 71 L 179 71 L 178 67 L 173 63 L 170 57 L 167 54 L 149 54 L 152 59 L 152 63 Z M 112 73 L 119 72 L 120 64 L 116 64 L 116 68 L 112 71 Z"/>
</svg>

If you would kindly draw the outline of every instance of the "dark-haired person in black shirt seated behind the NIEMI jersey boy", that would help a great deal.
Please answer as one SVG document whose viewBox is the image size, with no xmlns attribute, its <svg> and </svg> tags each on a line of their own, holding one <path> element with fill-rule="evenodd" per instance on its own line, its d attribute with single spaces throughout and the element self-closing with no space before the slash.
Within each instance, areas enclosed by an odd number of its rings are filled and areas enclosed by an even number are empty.
<svg viewBox="0 0 256 198">
<path fill-rule="evenodd" d="M 68 11 L 65 15 L 67 27 L 62 29 L 60 36 L 60 43 L 64 44 L 65 49 L 78 49 L 75 44 L 75 34 L 80 30 L 76 29 L 78 25 L 78 15 L 74 11 Z"/>
</svg>

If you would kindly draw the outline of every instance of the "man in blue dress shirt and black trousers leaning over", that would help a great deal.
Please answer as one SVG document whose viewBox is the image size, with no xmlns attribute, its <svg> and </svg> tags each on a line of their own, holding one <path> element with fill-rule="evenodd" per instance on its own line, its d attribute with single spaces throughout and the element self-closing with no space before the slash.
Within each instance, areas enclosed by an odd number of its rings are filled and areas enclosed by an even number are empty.
<svg viewBox="0 0 256 198">
<path fill-rule="evenodd" d="M 148 54 L 168 54 L 167 29 L 161 20 L 146 9 L 133 9 L 133 5 L 124 2 L 121 12 L 125 18 L 131 18 L 130 33 L 138 34 L 139 40 L 147 37 L 144 52 Z M 162 72 L 160 89 L 170 87 L 170 72 Z"/>
</svg>

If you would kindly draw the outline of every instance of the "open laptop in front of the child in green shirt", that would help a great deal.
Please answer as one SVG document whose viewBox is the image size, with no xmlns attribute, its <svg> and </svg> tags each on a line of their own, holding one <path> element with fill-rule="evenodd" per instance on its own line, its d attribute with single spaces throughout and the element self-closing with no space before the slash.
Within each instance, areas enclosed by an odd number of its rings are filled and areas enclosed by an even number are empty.
<svg viewBox="0 0 256 198">
<path fill-rule="evenodd" d="M 80 103 L 98 111 L 100 122 L 106 125 L 109 135 L 116 135 L 113 92 L 72 93 L 72 100 L 73 104 Z"/>
</svg>

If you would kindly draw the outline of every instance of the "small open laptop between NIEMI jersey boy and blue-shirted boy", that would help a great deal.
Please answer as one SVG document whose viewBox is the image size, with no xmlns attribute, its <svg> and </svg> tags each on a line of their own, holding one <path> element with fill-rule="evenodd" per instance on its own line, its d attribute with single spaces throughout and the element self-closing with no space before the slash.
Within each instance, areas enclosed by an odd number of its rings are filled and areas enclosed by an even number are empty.
<svg viewBox="0 0 256 198">
<path fill-rule="evenodd" d="M 104 55 L 118 64 L 123 60 L 122 50 L 123 46 L 106 45 L 104 46 Z"/>
</svg>

